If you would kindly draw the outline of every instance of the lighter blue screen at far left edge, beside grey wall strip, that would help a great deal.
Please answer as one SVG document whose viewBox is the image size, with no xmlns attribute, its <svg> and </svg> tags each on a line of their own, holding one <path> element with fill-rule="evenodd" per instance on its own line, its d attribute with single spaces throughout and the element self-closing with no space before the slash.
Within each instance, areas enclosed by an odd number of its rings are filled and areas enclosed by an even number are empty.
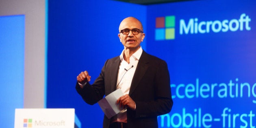
<svg viewBox="0 0 256 128">
<path fill-rule="evenodd" d="M 0 17 L 0 120 L 13 128 L 15 108 L 23 108 L 25 15 Z"/>
</svg>

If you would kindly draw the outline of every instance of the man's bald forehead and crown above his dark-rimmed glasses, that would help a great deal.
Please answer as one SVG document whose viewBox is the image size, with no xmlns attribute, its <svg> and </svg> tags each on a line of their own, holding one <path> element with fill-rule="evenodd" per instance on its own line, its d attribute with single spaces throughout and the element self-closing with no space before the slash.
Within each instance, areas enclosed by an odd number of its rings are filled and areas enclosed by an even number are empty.
<svg viewBox="0 0 256 128">
<path fill-rule="evenodd" d="M 141 23 L 138 20 L 134 19 L 134 18 L 127 18 L 127 19 L 124 19 L 120 23 L 120 26 L 119 26 L 120 30 L 125 29 L 125 28 L 129 28 L 129 29 L 139 28 L 139 29 L 141 29 Z"/>
</svg>

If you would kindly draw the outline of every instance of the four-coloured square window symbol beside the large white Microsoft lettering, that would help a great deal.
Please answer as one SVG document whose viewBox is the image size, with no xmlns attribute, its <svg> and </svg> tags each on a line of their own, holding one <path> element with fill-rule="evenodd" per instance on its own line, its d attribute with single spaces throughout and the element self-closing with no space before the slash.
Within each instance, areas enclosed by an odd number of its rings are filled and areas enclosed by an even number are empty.
<svg viewBox="0 0 256 128">
<path fill-rule="evenodd" d="M 175 16 L 156 17 L 155 40 L 175 39 Z"/>
</svg>

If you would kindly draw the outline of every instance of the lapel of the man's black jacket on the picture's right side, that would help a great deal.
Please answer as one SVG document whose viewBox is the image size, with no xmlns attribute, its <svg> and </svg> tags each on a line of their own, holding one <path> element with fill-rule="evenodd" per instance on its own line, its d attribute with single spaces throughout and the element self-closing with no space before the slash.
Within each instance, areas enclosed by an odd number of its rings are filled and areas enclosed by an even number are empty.
<svg viewBox="0 0 256 128">
<path fill-rule="evenodd" d="M 132 83 L 131 83 L 131 87 L 130 87 L 130 91 L 129 91 L 129 95 L 132 94 L 132 92 L 137 88 L 137 86 L 139 85 L 139 81 L 141 80 L 141 78 L 144 76 L 146 70 L 148 69 L 148 54 L 146 52 L 142 52 L 141 57 L 139 59 L 137 68 L 135 70 L 134 76 L 132 78 Z"/>
</svg>

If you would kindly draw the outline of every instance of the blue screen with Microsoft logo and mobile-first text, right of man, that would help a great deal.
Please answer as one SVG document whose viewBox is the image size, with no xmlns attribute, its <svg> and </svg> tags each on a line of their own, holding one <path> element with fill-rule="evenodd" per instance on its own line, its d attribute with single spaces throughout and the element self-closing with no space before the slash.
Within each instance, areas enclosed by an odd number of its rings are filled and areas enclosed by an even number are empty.
<svg viewBox="0 0 256 128">
<path fill-rule="evenodd" d="M 168 63 L 174 106 L 162 128 L 256 126 L 254 0 L 148 7 L 147 50 Z"/>
</svg>

